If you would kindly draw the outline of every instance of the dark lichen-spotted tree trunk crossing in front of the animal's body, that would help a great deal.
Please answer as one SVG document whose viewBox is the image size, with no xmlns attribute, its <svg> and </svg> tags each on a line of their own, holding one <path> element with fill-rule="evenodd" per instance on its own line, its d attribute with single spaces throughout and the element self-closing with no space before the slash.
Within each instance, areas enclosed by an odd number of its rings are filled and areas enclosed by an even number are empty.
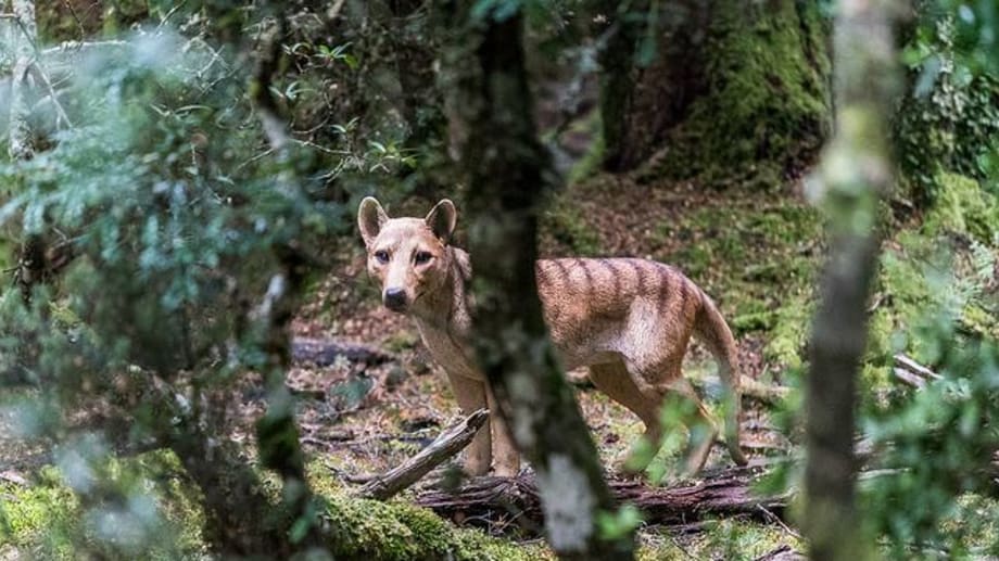
<svg viewBox="0 0 999 561">
<path fill-rule="evenodd" d="M 564 559 L 631 559 L 633 536 L 602 539 L 614 509 L 596 448 L 566 384 L 534 279 L 540 202 L 554 182 L 536 138 L 519 13 L 471 7 L 453 21 L 446 56 L 451 129 L 468 179 L 477 280 L 473 340 L 518 448 L 533 464 L 547 538 Z"/>
</svg>

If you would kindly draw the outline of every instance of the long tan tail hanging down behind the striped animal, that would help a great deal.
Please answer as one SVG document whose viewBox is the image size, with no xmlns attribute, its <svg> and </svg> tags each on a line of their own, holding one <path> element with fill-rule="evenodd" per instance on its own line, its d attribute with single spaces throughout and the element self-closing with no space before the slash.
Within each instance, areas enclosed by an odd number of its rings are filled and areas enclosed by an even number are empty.
<svg viewBox="0 0 999 561">
<path fill-rule="evenodd" d="M 738 350 L 735 339 L 729 324 L 721 317 L 721 313 L 704 292 L 700 293 L 701 306 L 694 321 L 694 332 L 704 341 L 708 349 L 718 361 L 718 375 L 722 384 L 728 386 L 725 399 L 725 444 L 729 455 L 739 466 L 747 463 L 746 456 L 741 446 L 742 426 L 742 394 L 739 393 Z"/>
</svg>

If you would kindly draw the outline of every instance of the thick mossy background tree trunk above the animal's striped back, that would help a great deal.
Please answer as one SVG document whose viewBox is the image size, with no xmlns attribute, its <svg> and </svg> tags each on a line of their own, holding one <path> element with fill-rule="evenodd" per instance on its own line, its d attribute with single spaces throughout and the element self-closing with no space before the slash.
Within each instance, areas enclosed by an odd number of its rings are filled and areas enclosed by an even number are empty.
<svg viewBox="0 0 999 561">
<path fill-rule="evenodd" d="M 632 18 L 642 8 L 631 7 Z M 641 64 L 648 29 L 634 25 L 610 35 L 602 58 L 608 169 L 652 158 L 646 179 L 751 178 L 771 186 L 812 160 L 831 111 L 827 24 L 819 3 L 684 1 L 646 15 L 658 38 L 649 64 Z"/>
</svg>

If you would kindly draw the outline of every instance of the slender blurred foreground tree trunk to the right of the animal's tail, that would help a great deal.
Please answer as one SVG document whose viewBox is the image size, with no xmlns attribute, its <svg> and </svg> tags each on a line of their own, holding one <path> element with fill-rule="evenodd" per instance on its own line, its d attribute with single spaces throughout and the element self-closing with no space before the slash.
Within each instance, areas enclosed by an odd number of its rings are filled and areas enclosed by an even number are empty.
<svg viewBox="0 0 999 561">
<path fill-rule="evenodd" d="M 820 561 L 867 553 L 855 522 L 853 408 L 877 265 L 877 203 L 894 180 L 887 119 L 898 85 L 893 4 L 844 0 L 836 20 L 837 130 L 821 167 L 831 256 L 812 327 L 806 395 L 805 528 L 811 558 Z"/>
</svg>

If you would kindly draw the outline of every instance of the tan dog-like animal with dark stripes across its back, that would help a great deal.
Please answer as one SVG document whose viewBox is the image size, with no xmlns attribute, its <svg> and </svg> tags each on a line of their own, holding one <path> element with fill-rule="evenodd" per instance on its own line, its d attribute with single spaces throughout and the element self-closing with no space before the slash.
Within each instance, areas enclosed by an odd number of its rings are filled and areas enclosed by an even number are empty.
<svg viewBox="0 0 999 561">
<path fill-rule="evenodd" d="M 381 283 L 384 305 L 416 320 L 463 411 L 498 411 L 469 345 L 472 271 L 468 254 L 450 244 L 456 220 L 448 200 L 426 218 L 389 218 L 372 197 L 365 199 L 357 213 L 368 272 Z M 693 403 L 692 426 L 706 431 L 691 431 L 687 473 L 704 466 L 718 434 L 717 423 L 681 372 L 691 335 L 698 335 L 718 360 L 731 392 L 729 452 L 736 463 L 746 463 L 739 448 L 735 341 L 697 285 L 676 269 L 645 259 L 545 259 L 538 262 L 536 275 L 545 321 L 564 366 L 589 366 L 594 385 L 642 419 L 648 442 L 661 442 L 659 411 L 667 394 Z M 472 442 L 465 469 L 479 475 L 495 461 L 497 475 L 515 475 L 520 457 L 509 430 L 497 413 L 490 416 L 490 425 Z"/>
</svg>

